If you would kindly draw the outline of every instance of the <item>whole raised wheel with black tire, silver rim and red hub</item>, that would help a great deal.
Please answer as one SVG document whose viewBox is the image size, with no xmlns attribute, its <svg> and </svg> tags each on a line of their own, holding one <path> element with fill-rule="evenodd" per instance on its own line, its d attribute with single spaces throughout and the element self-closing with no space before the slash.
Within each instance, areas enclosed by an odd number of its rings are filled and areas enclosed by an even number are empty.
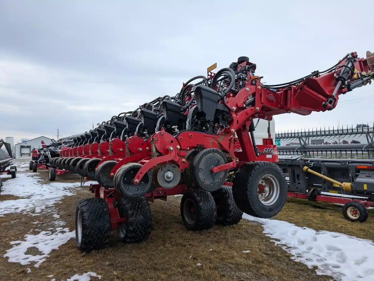
<svg viewBox="0 0 374 281">
<path fill-rule="evenodd" d="M 258 218 L 271 218 L 282 210 L 287 183 L 282 169 L 272 162 L 252 162 L 242 166 L 233 180 L 237 206 Z"/>
</svg>

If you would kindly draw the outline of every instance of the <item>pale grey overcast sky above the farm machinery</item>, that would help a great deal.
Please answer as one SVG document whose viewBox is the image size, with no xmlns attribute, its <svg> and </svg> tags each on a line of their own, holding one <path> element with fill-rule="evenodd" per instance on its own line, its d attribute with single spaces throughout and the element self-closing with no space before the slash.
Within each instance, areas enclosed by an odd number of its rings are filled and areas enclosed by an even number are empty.
<svg viewBox="0 0 374 281">
<path fill-rule="evenodd" d="M 278 84 L 374 51 L 367 1 L 206 2 L 0 1 L 0 138 L 88 131 L 238 56 Z M 374 85 L 351 99 L 276 129 L 373 123 Z"/>
</svg>

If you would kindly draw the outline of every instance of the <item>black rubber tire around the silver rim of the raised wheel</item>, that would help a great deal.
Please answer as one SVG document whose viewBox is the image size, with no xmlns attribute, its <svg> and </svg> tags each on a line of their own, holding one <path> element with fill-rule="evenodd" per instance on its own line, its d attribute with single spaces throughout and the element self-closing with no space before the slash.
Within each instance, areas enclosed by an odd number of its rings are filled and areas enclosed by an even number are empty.
<svg viewBox="0 0 374 281">
<path fill-rule="evenodd" d="M 257 195 L 258 182 L 267 174 L 274 176 L 279 184 L 278 199 L 269 206 L 261 203 Z M 235 203 L 243 212 L 258 218 L 272 218 L 286 203 L 288 187 L 285 175 L 278 165 L 272 162 L 252 162 L 236 172 L 232 190 Z"/>
</svg>

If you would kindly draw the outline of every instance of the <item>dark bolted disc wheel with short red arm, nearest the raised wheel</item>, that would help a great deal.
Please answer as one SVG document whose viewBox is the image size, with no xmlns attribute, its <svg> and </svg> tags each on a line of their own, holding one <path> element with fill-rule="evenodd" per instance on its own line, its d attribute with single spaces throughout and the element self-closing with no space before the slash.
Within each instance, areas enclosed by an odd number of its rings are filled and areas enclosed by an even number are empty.
<svg viewBox="0 0 374 281">
<path fill-rule="evenodd" d="M 197 187 L 206 191 L 215 191 L 226 181 L 229 170 L 214 173 L 213 167 L 227 163 L 226 155 L 215 148 L 203 149 L 192 161 L 192 178 Z"/>
</svg>

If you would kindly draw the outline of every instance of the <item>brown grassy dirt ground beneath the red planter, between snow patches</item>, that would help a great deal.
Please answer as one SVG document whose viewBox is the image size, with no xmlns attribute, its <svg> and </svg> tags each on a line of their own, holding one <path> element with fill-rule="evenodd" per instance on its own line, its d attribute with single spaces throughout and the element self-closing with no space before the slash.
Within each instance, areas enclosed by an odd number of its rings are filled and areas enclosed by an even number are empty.
<svg viewBox="0 0 374 281">
<path fill-rule="evenodd" d="M 40 172 L 47 179 L 47 172 Z M 57 181 L 78 182 L 77 175 L 57 176 Z M 77 189 L 73 196 L 64 197 L 53 213 L 65 221 L 64 227 L 74 230 L 76 204 L 80 199 L 93 197 L 88 184 Z M 151 237 L 140 244 L 123 244 L 113 232 L 108 249 L 84 254 L 71 239 L 50 253 L 39 268 L 33 264 L 21 266 L 10 263 L 2 256 L 11 248 L 10 241 L 23 240 L 35 229 L 34 221 L 42 222 L 38 228 L 56 227 L 52 213 L 33 217 L 8 214 L 0 217 L 0 280 L 66 280 L 74 274 L 96 272 L 101 280 L 331 280 L 318 276 L 314 269 L 294 262 L 281 247 L 270 242 L 257 223 L 242 219 L 233 227 L 215 226 L 210 230 L 188 231 L 180 218 L 180 198 L 169 197 L 167 202 L 150 203 L 153 228 Z M 0 200 L 13 199 L 0 196 Z M 326 203 L 288 199 L 283 210 L 275 217 L 301 227 L 329 230 L 360 238 L 374 237 L 374 210 L 364 224 L 348 222 L 343 218 L 341 206 Z M 31 231 L 38 234 L 40 231 Z M 31 252 L 33 249 L 29 249 Z M 35 249 L 37 252 L 37 249 Z M 250 253 L 243 253 L 250 250 Z M 35 252 L 35 251 L 34 251 Z M 35 254 L 35 253 L 34 253 Z M 197 266 L 197 263 L 201 263 Z M 31 269 L 27 273 L 27 268 Z M 53 277 L 48 277 L 53 275 Z M 91 280 L 98 280 L 91 277 Z"/>
</svg>

